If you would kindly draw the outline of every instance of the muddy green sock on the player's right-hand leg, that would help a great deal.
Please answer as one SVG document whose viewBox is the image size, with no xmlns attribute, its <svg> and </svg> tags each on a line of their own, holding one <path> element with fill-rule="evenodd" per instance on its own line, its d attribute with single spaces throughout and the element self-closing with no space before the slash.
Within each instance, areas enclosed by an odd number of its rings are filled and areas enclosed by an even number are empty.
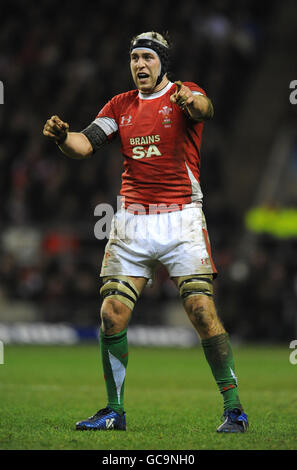
<svg viewBox="0 0 297 470">
<path fill-rule="evenodd" d="M 237 391 L 237 378 L 228 333 L 201 341 L 205 357 L 224 400 L 224 410 L 242 409 Z"/>
</svg>

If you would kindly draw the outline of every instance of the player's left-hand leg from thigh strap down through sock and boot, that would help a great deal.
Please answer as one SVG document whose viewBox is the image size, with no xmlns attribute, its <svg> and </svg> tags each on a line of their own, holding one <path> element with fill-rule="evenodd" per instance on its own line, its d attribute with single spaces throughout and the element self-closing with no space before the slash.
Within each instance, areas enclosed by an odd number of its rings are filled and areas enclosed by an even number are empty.
<svg viewBox="0 0 297 470">
<path fill-rule="evenodd" d="M 128 365 L 127 326 L 134 303 L 147 283 L 140 277 L 112 276 L 101 293 L 100 351 L 107 406 L 76 424 L 78 430 L 125 430 L 124 383 Z M 134 296 L 134 297 L 133 297 Z"/>
</svg>

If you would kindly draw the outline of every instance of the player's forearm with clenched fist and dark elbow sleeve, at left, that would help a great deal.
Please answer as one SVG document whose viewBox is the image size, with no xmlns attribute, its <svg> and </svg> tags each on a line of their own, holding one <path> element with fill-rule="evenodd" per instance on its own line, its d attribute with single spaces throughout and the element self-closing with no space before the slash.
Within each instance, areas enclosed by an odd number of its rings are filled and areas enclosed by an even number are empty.
<svg viewBox="0 0 297 470">
<path fill-rule="evenodd" d="M 69 132 L 69 124 L 59 116 L 52 116 L 46 121 L 43 135 L 55 141 L 65 155 L 75 159 L 91 157 L 108 141 L 104 131 L 96 124 L 91 124 L 82 132 Z"/>
</svg>

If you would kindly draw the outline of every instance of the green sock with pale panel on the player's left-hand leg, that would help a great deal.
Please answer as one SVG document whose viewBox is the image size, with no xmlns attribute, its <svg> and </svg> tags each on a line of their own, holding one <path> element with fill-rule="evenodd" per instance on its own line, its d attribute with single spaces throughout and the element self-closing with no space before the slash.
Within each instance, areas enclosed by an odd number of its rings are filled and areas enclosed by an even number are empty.
<svg viewBox="0 0 297 470">
<path fill-rule="evenodd" d="M 100 330 L 100 351 L 108 398 L 107 406 L 123 414 L 124 383 L 128 364 L 127 329 L 110 336 Z"/>
</svg>

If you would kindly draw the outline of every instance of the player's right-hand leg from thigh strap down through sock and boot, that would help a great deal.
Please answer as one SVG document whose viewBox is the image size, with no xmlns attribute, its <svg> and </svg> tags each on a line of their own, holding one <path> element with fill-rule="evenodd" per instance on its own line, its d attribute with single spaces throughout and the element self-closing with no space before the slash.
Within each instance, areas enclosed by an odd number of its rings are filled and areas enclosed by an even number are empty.
<svg viewBox="0 0 297 470">
<path fill-rule="evenodd" d="M 195 275 L 185 282 L 190 285 Z M 237 392 L 237 378 L 233 361 L 233 353 L 229 335 L 218 317 L 210 288 L 209 276 L 196 276 L 196 288 L 201 294 L 191 293 L 191 287 L 181 290 L 182 278 L 173 278 L 180 293 L 187 296 L 184 299 L 185 311 L 196 329 L 205 357 L 210 365 L 215 381 L 224 400 L 224 416 L 226 420 L 218 427 L 218 432 L 245 432 L 248 427 L 247 416 L 243 413 Z M 204 281 L 205 279 L 205 281 Z M 202 282 L 201 282 L 202 281 Z M 204 291 L 204 292 L 203 292 Z"/>
</svg>

